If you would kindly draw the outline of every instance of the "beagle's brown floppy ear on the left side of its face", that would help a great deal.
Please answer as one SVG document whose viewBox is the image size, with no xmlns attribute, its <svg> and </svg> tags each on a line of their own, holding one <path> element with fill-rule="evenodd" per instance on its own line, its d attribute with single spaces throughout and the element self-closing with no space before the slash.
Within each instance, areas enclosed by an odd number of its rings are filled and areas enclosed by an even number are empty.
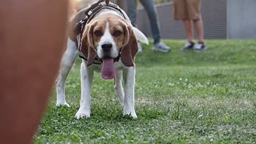
<svg viewBox="0 0 256 144">
<path fill-rule="evenodd" d="M 80 51 L 87 58 L 88 67 L 94 63 L 95 57 L 97 55 L 96 47 L 94 46 L 94 41 L 92 39 L 92 32 L 96 23 L 97 21 L 93 21 L 92 23 L 89 23 L 85 26 L 81 41 Z"/>
</svg>

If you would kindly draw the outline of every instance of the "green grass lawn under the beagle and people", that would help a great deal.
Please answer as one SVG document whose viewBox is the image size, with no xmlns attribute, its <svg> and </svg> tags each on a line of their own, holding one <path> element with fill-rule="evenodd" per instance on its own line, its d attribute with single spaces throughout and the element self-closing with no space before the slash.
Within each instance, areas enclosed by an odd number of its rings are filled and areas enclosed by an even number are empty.
<svg viewBox="0 0 256 144">
<path fill-rule="evenodd" d="M 78 59 L 66 82 L 71 107 L 56 107 L 54 92 L 34 143 L 255 143 L 256 40 L 208 40 L 204 53 L 181 52 L 182 40 L 165 42 L 170 53 L 143 45 L 136 57 L 137 119 L 122 115 L 113 80 L 98 73 L 91 118 L 74 118 Z"/>
</svg>

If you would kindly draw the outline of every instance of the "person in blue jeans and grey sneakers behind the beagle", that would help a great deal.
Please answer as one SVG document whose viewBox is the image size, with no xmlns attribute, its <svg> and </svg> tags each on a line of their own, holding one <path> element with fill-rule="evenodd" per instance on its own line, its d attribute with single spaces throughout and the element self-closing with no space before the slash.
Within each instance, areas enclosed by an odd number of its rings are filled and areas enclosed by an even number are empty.
<svg viewBox="0 0 256 144">
<path fill-rule="evenodd" d="M 154 39 L 154 51 L 160 51 L 160 52 L 169 52 L 171 51 L 170 47 L 166 44 L 162 43 L 161 41 L 161 33 L 160 33 L 160 25 L 158 21 L 158 15 L 156 13 L 156 8 L 153 0 L 140 0 L 143 7 L 146 9 L 149 21 L 150 21 L 150 27 L 153 34 Z M 131 23 L 133 26 L 137 27 L 136 24 L 136 12 L 137 12 L 137 0 L 127 0 L 127 15 L 129 16 Z M 139 52 L 142 51 L 142 47 L 140 44 L 139 46 Z"/>
</svg>

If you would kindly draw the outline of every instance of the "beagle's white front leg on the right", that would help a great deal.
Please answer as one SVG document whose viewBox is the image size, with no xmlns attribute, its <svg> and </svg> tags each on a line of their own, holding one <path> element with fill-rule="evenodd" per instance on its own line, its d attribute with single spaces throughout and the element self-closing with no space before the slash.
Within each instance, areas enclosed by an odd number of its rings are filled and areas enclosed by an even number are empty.
<svg viewBox="0 0 256 144">
<path fill-rule="evenodd" d="M 137 118 L 134 107 L 135 73 L 135 67 L 128 67 L 127 69 L 123 70 L 125 85 L 123 115 L 130 115 L 133 118 Z"/>
</svg>

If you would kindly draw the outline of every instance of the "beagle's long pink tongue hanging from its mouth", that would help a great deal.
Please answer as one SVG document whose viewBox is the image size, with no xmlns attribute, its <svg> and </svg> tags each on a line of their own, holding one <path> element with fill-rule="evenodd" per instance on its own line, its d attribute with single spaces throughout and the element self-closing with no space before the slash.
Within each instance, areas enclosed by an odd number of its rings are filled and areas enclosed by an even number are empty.
<svg viewBox="0 0 256 144">
<path fill-rule="evenodd" d="M 103 79 L 113 79 L 115 77 L 114 59 L 104 58 L 101 69 L 101 76 Z"/>
</svg>

